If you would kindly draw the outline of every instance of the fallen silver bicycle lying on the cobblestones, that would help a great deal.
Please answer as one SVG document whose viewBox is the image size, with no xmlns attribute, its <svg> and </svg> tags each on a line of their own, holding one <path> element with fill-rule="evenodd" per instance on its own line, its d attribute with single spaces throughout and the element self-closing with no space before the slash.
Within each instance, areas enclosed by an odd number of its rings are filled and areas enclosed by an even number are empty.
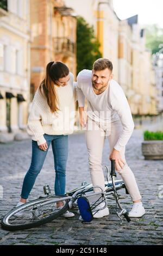
<svg viewBox="0 0 163 256">
<path fill-rule="evenodd" d="M 82 182 L 81 187 L 74 190 L 68 191 L 65 193 L 65 196 L 55 196 L 51 194 L 51 190 L 48 185 L 43 186 L 44 193 L 46 197 L 39 197 L 39 199 L 32 200 L 26 204 L 18 206 L 10 210 L 1 220 L 1 226 L 3 229 L 14 231 L 14 230 L 23 230 L 29 228 L 39 227 L 42 224 L 46 224 L 55 220 L 67 210 L 72 210 L 78 207 L 78 199 L 86 198 L 88 210 L 93 217 L 97 210 L 97 206 L 104 202 L 104 206 L 101 209 L 104 209 L 107 203 L 107 200 L 116 200 L 116 214 L 121 219 L 122 216 L 126 218 L 129 222 L 130 218 L 127 214 L 126 209 L 123 209 L 119 202 L 119 195 L 117 193 L 121 188 L 125 188 L 126 193 L 128 194 L 127 188 L 124 185 L 123 180 L 115 180 L 115 162 L 111 160 L 111 172 L 109 175 L 109 169 L 107 166 L 107 181 L 105 181 L 105 192 L 101 187 L 99 192 L 93 192 L 92 184 L 86 184 Z M 111 178 L 111 181 L 109 179 Z M 110 198 L 112 196 L 112 198 Z M 91 206 L 90 206 L 91 204 Z M 120 208 L 121 212 L 117 211 L 117 205 Z M 81 210 L 81 206 L 79 208 Z M 81 214 L 81 211 L 80 211 Z M 90 219 L 90 221 L 92 218 Z"/>
</svg>

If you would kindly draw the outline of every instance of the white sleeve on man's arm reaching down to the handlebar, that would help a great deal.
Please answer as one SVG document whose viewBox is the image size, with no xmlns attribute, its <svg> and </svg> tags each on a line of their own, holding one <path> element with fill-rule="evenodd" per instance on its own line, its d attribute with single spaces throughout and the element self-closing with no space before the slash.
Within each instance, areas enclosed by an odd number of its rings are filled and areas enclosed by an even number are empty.
<svg viewBox="0 0 163 256">
<path fill-rule="evenodd" d="M 112 84 L 110 90 L 110 102 L 112 109 L 118 113 L 123 126 L 122 133 L 114 146 L 116 150 L 121 151 L 122 147 L 126 146 L 133 133 L 134 121 L 127 98 L 119 84 Z"/>
</svg>

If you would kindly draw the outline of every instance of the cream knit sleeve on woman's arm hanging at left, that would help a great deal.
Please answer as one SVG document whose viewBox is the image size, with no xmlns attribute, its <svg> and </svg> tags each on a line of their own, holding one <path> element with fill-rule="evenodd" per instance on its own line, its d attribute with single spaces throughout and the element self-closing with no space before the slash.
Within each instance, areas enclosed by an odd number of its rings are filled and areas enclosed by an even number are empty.
<svg viewBox="0 0 163 256">
<path fill-rule="evenodd" d="M 37 141 L 37 145 L 41 145 L 46 142 L 46 139 L 43 137 L 45 132 L 43 131 L 41 125 L 40 104 L 39 101 L 37 101 L 37 92 L 35 94 L 29 114 L 27 132 L 30 136 L 32 136 L 33 141 Z"/>
</svg>

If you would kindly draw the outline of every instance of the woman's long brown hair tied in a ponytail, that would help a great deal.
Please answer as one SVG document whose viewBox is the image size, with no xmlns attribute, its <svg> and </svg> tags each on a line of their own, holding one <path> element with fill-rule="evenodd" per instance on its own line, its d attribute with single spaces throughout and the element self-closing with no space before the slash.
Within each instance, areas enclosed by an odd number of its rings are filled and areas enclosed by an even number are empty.
<svg viewBox="0 0 163 256">
<path fill-rule="evenodd" d="M 40 92 L 41 88 L 43 89 L 52 113 L 59 110 L 54 83 L 57 82 L 59 78 L 68 76 L 69 72 L 68 67 L 62 62 L 49 62 L 46 66 L 46 75 L 39 89 Z"/>
</svg>

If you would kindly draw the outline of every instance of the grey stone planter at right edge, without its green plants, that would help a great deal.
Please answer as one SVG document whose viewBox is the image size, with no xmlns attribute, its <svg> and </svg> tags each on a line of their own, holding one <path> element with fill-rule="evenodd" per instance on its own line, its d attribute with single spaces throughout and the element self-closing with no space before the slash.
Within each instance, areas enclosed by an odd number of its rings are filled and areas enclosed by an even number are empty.
<svg viewBox="0 0 163 256">
<path fill-rule="evenodd" d="M 163 160 L 163 141 L 142 142 L 142 154 L 146 160 Z"/>
</svg>

